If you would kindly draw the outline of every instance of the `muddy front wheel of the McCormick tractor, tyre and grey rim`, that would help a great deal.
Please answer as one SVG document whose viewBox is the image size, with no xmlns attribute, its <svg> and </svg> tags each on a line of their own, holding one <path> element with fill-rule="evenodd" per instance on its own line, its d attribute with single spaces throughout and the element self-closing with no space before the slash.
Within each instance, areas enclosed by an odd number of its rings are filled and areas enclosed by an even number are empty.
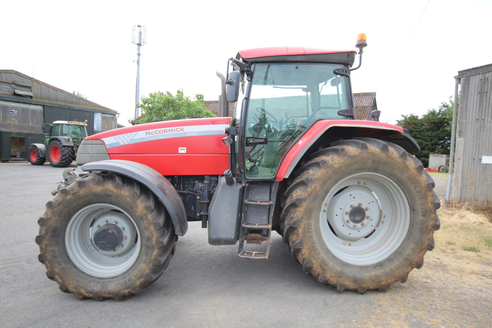
<svg viewBox="0 0 492 328">
<path fill-rule="evenodd" d="M 91 173 L 61 188 L 38 224 L 38 258 L 46 275 L 78 298 L 138 294 L 175 252 L 172 221 L 160 201 L 138 182 L 113 173 Z M 112 249 L 96 238 L 105 225 L 122 233 Z"/>
</svg>

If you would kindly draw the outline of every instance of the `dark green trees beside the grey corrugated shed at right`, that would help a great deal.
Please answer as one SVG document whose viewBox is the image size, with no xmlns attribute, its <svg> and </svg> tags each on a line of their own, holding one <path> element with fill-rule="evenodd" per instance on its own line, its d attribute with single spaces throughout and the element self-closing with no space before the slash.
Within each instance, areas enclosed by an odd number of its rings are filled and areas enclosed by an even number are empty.
<svg viewBox="0 0 492 328">
<path fill-rule="evenodd" d="M 425 166 L 429 165 L 430 154 L 448 154 L 451 144 L 451 124 L 453 121 L 453 100 L 443 101 L 438 109 L 430 109 L 422 117 L 402 115 L 398 125 L 408 129 L 420 146 L 416 155 Z"/>
</svg>

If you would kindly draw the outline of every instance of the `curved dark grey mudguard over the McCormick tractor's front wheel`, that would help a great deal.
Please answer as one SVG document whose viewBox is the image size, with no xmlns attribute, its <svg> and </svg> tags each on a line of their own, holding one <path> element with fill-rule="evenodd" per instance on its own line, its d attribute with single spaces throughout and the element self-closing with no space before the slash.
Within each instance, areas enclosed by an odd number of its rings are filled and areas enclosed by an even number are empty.
<svg viewBox="0 0 492 328">
<path fill-rule="evenodd" d="M 107 171 L 134 179 L 147 188 L 160 200 L 173 221 L 176 235 L 183 236 L 188 230 L 183 201 L 171 182 L 147 165 L 132 161 L 110 159 L 82 165 L 82 171 Z"/>
</svg>

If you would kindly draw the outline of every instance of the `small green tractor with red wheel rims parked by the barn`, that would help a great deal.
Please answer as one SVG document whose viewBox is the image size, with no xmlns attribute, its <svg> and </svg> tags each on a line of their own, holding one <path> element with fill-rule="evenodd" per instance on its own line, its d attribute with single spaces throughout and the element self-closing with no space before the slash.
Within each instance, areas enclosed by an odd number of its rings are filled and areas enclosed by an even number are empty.
<svg viewBox="0 0 492 328">
<path fill-rule="evenodd" d="M 46 158 L 53 167 L 66 167 L 77 156 L 79 146 L 87 137 L 85 122 L 57 120 L 47 127 L 44 144 L 31 144 L 28 160 L 32 165 L 43 165 Z"/>
</svg>

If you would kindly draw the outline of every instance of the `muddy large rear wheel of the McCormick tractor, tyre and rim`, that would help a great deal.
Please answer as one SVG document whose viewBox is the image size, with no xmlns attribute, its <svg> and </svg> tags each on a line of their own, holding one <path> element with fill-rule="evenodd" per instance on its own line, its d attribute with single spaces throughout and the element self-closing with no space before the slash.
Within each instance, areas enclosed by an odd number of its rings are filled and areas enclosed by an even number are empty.
<svg viewBox="0 0 492 328">
<path fill-rule="evenodd" d="M 364 293 L 403 283 L 422 267 L 440 226 L 440 202 L 417 158 L 389 142 L 356 139 L 313 153 L 295 172 L 284 193 L 281 226 L 306 273 L 339 292 Z M 351 206 L 364 213 L 352 215 Z"/>
</svg>

